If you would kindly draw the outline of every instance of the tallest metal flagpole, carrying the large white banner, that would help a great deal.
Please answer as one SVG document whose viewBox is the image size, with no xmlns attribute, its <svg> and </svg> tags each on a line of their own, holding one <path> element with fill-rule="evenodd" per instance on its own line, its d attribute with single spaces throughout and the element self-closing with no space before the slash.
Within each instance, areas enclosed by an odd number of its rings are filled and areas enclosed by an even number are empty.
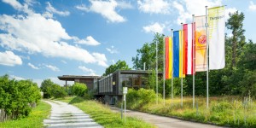
<svg viewBox="0 0 256 128">
<path fill-rule="evenodd" d="M 206 27 L 207 27 L 207 108 L 209 108 L 209 38 L 208 38 L 208 14 L 207 14 L 207 6 L 206 6 Z"/>
</svg>

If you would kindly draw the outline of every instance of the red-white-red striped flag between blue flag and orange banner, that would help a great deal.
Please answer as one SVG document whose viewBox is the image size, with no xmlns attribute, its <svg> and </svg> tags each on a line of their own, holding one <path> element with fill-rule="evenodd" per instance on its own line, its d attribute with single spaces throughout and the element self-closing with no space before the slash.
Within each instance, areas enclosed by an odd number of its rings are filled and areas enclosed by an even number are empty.
<svg viewBox="0 0 256 128">
<path fill-rule="evenodd" d="M 184 44 L 184 68 L 185 74 L 193 74 L 193 38 L 192 24 L 183 24 L 183 44 Z"/>
</svg>

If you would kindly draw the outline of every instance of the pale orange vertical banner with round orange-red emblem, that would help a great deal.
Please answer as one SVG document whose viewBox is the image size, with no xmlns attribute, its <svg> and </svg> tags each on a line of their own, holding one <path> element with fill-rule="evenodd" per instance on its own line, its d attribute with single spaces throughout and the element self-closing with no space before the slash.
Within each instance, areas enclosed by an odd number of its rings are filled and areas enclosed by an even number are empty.
<svg viewBox="0 0 256 128">
<path fill-rule="evenodd" d="M 195 16 L 195 72 L 207 71 L 206 16 Z"/>
</svg>

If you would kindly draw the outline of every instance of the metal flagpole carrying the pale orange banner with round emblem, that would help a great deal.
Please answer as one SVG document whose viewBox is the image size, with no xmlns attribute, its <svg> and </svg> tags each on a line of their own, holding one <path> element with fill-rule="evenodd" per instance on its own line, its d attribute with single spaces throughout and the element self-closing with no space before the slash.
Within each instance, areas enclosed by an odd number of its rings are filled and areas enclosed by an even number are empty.
<svg viewBox="0 0 256 128">
<path fill-rule="evenodd" d="M 195 22 L 195 15 L 192 15 L 193 20 L 192 20 L 192 46 L 193 46 L 193 109 L 195 108 L 195 27 L 194 27 L 194 22 Z"/>
</svg>

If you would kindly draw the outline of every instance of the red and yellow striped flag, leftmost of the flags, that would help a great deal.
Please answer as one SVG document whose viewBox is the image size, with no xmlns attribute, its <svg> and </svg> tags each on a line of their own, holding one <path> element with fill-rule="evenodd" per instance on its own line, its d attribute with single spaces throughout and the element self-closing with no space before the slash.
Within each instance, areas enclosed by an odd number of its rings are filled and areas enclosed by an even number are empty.
<svg viewBox="0 0 256 128">
<path fill-rule="evenodd" d="M 172 38 L 165 38 L 166 44 L 166 79 L 172 78 Z"/>
</svg>

